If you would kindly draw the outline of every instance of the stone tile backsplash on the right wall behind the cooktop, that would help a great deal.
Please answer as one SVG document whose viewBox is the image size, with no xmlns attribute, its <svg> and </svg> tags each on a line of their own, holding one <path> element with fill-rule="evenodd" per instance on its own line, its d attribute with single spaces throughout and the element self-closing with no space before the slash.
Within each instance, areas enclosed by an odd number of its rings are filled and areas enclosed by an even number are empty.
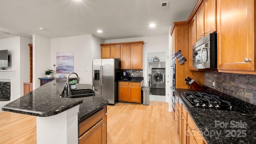
<svg viewBox="0 0 256 144">
<path fill-rule="evenodd" d="M 205 71 L 204 85 L 256 105 L 256 75 Z"/>
</svg>

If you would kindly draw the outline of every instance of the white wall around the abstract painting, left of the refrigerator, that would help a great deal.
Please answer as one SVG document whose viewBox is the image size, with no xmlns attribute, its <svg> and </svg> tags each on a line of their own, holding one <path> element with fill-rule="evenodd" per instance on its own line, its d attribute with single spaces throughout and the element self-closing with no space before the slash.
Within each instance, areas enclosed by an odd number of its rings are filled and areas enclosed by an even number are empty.
<svg viewBox="0 0 256 144">
<path fill-rule="evenodd" d="M 100 43 L 103 40 L 91 34 L 51 39 L 51 69 L 56 71 L 56 52 L 74 52 L 74 72 L 80 77 L 79 83 L 92 84 L 92 59 L 100 58 Z M 54 74 L 58 77 L 59 74 Z M 64 74 L 65 77 L 68 74 Z M 75 77 L 71 75 L 70 77 Z"/>
</svg>

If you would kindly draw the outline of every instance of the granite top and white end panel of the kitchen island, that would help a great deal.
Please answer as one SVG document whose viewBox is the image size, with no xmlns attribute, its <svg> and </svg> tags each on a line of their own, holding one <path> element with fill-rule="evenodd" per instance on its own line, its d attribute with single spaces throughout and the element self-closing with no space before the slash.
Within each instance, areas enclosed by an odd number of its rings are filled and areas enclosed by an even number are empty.
<svg viewBox="0 0 256 144">
<path fill-rule="evenodd" d="M 65 85 L 66 78 L 55 79 L 6 104 L 2 110 L 36 116 L 38 144 L 46 142 L 40 142 L 42 139 L 48 139 L 50 143 L 53 139 L 57 143 L 68 143 L 72 139 L 78 143 L 78 126 L 103 109 L 106 115 L 105 108 L 108 100 L 102 98 L 98 92 L 95 92 L 95 96 L 85 98 L 60 97 Z M 77 84 L 77 89 L 92 89 L 92 85 Z M 106 126 L 105 123 L 104 126 Z M 47 135 L 51 134 L 54 134 L 52 136 L 54 138 L 48 138 Z M 73 138 L 68 138 L 70 136 Z"/>
</svg>

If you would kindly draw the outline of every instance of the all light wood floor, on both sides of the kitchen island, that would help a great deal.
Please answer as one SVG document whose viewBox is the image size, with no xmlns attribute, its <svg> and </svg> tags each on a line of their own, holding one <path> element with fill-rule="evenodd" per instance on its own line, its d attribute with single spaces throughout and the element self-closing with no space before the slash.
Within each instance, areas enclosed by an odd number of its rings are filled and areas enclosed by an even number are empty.
<svg viewBox="0 0 256 144">
<path fill-rule="evenodd" d="M 108 144 L 179 144 L 166 102 L 107 106 Z M 36 117 L 0 112 L 0 144 L 36 144 Z"/>
</svg>

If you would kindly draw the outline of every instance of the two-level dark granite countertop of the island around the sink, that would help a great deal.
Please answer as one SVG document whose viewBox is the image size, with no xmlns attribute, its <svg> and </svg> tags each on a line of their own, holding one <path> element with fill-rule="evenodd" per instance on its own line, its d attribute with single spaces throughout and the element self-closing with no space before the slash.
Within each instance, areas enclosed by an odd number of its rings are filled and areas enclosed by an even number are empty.
<svg viewBox="0 0 256 144">
<path fill-rule="evenodd" d="M 95 92 L 95 96 L 85 98 L 61 98 L 60 94 L 65 84 L 66 78 L 52 80 L 52 82 L 48 82 L 32 92 L 6 104 L 2 107 L 2 110 L 46 117 L 59 114 L 80 104 L 78 122 L 81 122 L 108 104 L 108 100 L 102 98 L 99 92 Z M 92 85 L 76 84 L 76 88 L 92 89 Z"/>
</svg>

